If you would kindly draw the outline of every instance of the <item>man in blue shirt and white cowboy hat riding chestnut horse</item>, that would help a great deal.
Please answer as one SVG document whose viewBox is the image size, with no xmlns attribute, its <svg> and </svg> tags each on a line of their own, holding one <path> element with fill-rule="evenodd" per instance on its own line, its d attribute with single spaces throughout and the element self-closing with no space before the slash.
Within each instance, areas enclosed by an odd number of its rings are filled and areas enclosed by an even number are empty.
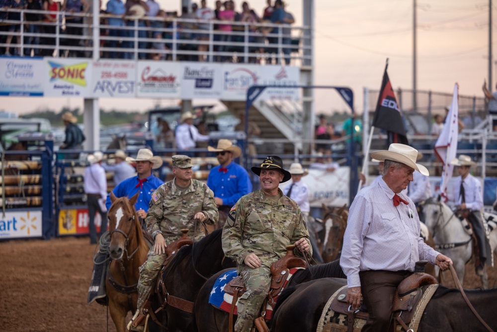
<svg viewBox="0 0 497 332">
<path fill-rule="evenodd" d="M 135 209 L 138 217 L 145 220 L 147 217 L 147 212 L 149 211 L 149 203 L 152 199 L 152 194 L 159 188 L 160 185 L 164 183 L 161 179 L 157 178 L 153 173 L 153 169 L 158 169 L 162 166 L 162 158 L 159 156 L 154 156 L 149 149 L 140 149 L 135 158 L 125 157 L 127 162 L 136 163 L 137 175 L 127 178 L 120 184 L 118 184 L 112 192 L 114 195 L 119 197 L 133 197 L 137 192 L 138 200 L 135 203 Z M 110 201 L 110 193 L 107 195 L 107 201 L 105 202 L 107 209 L 110 208 L 112 202 Z M 142 224 L 145 227 L 144 224 Z"/>
</svg>

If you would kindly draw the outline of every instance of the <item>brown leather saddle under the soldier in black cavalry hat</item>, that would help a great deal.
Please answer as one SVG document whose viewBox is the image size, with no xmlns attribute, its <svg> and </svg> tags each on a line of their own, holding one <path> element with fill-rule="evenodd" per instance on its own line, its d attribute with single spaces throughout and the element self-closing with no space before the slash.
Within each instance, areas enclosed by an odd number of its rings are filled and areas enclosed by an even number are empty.
<svg viewBox="0 0 497 332">
<path fill-rule="evenodd" d="M 272 298 L 278 295 L 283 287 L 283 284 L 288 276 L 289 269 L 294 267 L 303 267 L 307 268 L 308 264 L 302 258 L 294 255 L 293 250 L 295 249 L 295 245 L 288 245 L 286 247 L 286 255 L 276 262 L 271 264 L 271 287 L 269 289 L 268 300 L 269 303 L 272 303 Z M 224 291 L 230 295 L 235 295 L 237 292 L 237 296 L 241 297 L 247 289 L 245 288 L 244 280 L 242 276 L 238 276 L 226 284 Z M 234 301 L 236 301 L 237 297 L 233 297 Z"/>
</svg>

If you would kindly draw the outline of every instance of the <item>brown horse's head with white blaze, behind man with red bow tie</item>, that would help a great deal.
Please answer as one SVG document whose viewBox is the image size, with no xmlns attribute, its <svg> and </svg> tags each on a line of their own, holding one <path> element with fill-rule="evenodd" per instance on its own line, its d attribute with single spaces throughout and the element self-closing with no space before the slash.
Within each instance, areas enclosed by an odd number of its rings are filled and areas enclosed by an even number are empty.
<svg viewBox="0 0 497 332">
<path fill-rule="evenodd" d="M 348 219 L 348 210 L 345 207 L 346 205 L 341 208 L 328 208 L 323 204 L 324 238 L 320 245 L 320 251 L 325 263 L 340 258 L 343 234 Z"/>
</svg>

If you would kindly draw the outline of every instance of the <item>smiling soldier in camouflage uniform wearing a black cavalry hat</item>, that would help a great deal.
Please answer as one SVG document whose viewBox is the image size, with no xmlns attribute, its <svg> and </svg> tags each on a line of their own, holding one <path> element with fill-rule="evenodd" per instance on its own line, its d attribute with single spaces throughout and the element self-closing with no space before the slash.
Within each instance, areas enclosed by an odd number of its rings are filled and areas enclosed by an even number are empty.
<svg viewBox="0 0 497 332">
<path fill-rule="evenodd" d="M 272 263 L 295 244 L 296 254 L 312 254 L 309 232 L 299 206 L 283 195 L 279 184 L 290 180 L 278 156 L 267 156 L 260 167 L 260 190 L 243 196 L 231 209 L 223 228 L 223 250 L 238 263 L 247 292 L 238 302 L 235 332 L 249 332 L 271 284 Z"/>
</svg>

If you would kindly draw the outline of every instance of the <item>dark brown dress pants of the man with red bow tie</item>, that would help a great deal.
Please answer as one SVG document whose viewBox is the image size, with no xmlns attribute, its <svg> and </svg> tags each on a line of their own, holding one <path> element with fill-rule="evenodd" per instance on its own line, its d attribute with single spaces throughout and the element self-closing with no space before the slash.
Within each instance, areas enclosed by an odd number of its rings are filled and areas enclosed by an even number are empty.
<svg viewBox="0 0 497 332">
<path fill-rule="evenodd" d="M 369 318 L 361 332 L 393 331 L 392 302 L 397 286 L 410 271 L 360 271 L 361 293 Z"/>
</svg>

